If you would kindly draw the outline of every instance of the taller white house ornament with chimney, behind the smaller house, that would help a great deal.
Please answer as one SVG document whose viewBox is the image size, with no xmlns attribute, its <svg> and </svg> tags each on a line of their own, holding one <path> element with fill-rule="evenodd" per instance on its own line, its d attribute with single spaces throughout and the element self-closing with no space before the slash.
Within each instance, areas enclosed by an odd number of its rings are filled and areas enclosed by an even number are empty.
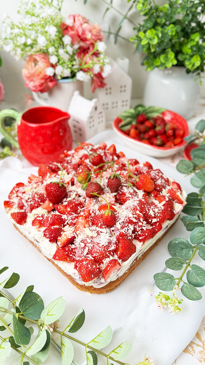
<svg viewBox="0 0 205 365">
<path fill-rule="evenodd" d="M 130 108 L 132 79 L 113 59 L 112 72 L 105 78 L 104 88 L 96 90 L 96 97 L 105 112 L 106 121 L 113 121 L 119 114 Z"/>
</svg>

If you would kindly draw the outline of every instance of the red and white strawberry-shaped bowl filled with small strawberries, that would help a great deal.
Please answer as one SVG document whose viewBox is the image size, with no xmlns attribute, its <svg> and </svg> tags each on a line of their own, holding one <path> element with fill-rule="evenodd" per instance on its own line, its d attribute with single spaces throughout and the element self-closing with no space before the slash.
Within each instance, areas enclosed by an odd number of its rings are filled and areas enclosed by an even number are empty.
<svg viewBox="0 0 205 365">
<path fill-rule="evenodd" d="M 115 132 L 136 151 L 153 157 L 167 157 L 182 149 L 189 135 L 181 115 L 159 107 L 137 105 L 113 122 Z"/>
</svg>

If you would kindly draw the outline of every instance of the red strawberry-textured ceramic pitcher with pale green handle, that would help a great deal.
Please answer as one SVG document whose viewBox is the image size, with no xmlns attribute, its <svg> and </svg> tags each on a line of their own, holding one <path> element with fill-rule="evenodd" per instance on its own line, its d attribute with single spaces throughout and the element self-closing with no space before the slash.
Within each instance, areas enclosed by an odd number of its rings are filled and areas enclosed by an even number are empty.
<svg viewBox="0 0 205 365">
<path fill-rule="evenodd" d="M 18 142 L 5 129 L 5 116 L 16 119 Z M 23 114 L 4 109 L 0 112 L 0 131 L 13 146 L 21 149 L 31 164 L 47 165 L 72 148 L 69 118 L 68 113 L 52 107 L 33 107 Z"/>
</svg>

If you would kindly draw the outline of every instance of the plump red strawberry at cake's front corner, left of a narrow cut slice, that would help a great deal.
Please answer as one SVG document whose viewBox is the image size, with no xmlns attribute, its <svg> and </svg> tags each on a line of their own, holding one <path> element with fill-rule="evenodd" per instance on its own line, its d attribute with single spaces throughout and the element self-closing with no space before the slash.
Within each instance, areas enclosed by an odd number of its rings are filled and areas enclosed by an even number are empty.
<svg viewBox="0 0 205 365">
<path fill-rule="evenodd" d="M 84 283 L 88 283 L 100 275 L 100 266 L 91 258 L 83 258 L 76 262 L 79 277 Z"/>
</svg>

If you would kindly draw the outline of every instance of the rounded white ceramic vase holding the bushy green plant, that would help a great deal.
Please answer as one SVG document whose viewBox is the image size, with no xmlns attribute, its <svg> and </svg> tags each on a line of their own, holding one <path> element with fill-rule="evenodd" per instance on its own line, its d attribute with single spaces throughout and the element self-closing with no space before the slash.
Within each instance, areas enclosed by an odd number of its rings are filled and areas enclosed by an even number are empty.
<svg viewBox="0 0 205 365">
<path fill-rule="evenodd" d="M 199 100 L 199 81 L 183 66 L 149 72 L 143 103 L 172 110 L 185 119 L 193 116 Z"/>
</svg>

